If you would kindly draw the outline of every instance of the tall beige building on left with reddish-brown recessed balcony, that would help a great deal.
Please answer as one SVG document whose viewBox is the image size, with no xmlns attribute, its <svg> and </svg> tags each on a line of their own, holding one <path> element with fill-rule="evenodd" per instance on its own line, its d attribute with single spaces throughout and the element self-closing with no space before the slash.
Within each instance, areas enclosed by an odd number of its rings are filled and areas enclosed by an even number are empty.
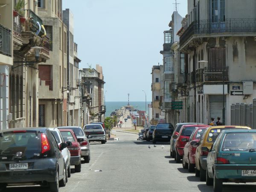
<svg viewBox="0 0 256 192">
<path fill-rule="evenodd" d="M 62 0 L 41 1 L 41 17 L 51 42 L 50 59 L 39 64 L 38 125 L 67 125 L 67 26 L 62 21 Z"/>
</svg>

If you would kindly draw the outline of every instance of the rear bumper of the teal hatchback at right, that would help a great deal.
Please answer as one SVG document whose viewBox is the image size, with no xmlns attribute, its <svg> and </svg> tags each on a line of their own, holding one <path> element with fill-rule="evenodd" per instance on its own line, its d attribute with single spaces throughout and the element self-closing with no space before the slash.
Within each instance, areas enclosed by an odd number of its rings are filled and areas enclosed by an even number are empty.
<svg viewBox="0 0 256 192">
<path fill-rule="evenodd" d="M 242 170 L 256 170 L 256 165 L 213 165 L 218 179 L 256 180 L 256 176 L 242 176 Z"/>
</svg>

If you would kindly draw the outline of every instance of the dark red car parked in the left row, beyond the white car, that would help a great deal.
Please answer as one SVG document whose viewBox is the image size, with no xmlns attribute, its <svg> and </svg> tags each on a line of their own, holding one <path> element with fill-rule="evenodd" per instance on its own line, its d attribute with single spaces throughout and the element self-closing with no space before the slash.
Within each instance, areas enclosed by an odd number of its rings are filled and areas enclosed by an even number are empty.
<svg viewBox="0 0 256 192">
<path fill-rule="evenodd" d="M 81 146 L 79 142 L 83 142 L 83 138 L 77 138 L 72 129 L 59 129 L 61 135 L 68 145 L 70 151 L 70 165 L 75 166 L 76 172 L 81 172 Z"/>
</svg>

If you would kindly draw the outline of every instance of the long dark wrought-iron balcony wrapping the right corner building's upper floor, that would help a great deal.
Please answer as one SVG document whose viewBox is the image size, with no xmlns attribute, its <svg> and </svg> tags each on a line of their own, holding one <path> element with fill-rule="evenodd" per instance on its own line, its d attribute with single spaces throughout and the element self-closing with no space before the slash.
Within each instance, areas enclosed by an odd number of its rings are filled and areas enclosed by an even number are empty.
<svg viewBox="0 0 256 192">
<path fill-rule="evenodd" d="M 230 33 L 255 33 L 256 19 L 226 19 L 225 21 L 212 22 L 211 20 L 199 20 L 192 22 L 186 31 L 180 36 L 180 47 L 193 35 L 206 34 L 230 34 Z"/>
</svg>

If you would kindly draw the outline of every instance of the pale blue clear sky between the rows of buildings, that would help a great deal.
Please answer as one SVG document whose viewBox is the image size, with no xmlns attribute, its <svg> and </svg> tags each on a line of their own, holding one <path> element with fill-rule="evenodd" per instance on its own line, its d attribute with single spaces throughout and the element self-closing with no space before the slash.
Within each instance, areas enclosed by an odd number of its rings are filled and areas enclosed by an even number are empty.
<svg viewBox="0 0 256 192">
<path fill-rule="evenodd" d="M 175 0 L 63 0 L 74 15 L 80 68 L 102 66 L 106 101 L 151 101 L 151 70 L 163 64 L 163 31 Z M 187 13 L 187 0 L 177 0 Z M 145 93 L 142 91 L 145 90 Z M 105 91 L 104 91 L 105 92 Z"/>
</svg>

